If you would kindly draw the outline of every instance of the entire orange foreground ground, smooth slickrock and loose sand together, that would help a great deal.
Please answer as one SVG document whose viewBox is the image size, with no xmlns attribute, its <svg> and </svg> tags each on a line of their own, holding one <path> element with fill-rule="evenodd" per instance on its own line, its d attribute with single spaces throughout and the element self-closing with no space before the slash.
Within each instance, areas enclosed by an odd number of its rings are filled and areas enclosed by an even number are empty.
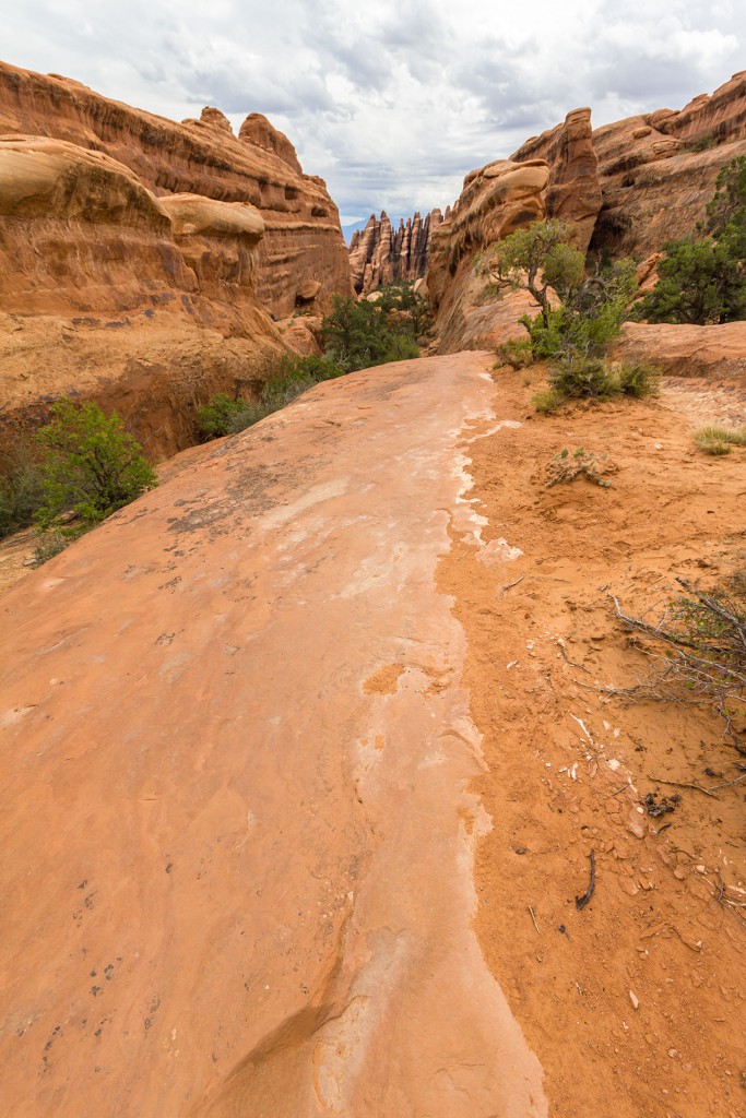
<svg viewBox="0 0 746 1118">
<path fill-rule="evenodd" d="M 746 551 L 746 453 L 691 440 L 738 404 L 538 417 L 490 362 L 321 386 L 6 546 L 15 1114 L 746 1116 L 744 758 L 604 691 L 649 663 L 610 595 Z M 548 489 L 580 446 L 611 487 Z"/>
</svg>

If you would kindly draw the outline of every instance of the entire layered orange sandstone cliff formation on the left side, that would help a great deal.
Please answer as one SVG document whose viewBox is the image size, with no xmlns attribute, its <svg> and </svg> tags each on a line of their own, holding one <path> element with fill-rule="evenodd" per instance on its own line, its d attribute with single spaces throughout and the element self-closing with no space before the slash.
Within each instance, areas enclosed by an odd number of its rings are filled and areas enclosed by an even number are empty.
<svg viewBox="0 0 746 1118">
<path fill-rule="evenodd" d="M 4 135 L 3 135 L 4 133 Z M 347 293 L 337 208 L 252 114 L 171 121 L 66 78 L 0 64 L 0 429 L 60 395 L 116 407 L 153 458 L 189 445 L 195 411 L 262 379 Z"/>
</svg>

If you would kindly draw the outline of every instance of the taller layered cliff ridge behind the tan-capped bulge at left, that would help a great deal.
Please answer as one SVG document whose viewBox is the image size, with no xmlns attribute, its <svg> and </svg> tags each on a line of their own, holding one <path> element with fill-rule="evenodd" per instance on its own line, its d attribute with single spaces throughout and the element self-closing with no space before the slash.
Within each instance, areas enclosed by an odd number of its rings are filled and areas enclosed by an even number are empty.
<svg viewBox="0 0 746 1118">
<path fill-rule="evenodd" d="M 77 82 L 0 64 L 0 134 L 44 135 L 100 151 L 152 193 L 200 195 L 255 206 L 265 224 L 257 294 L 277 318 L 299 287 L 320 283 L 319 306 L 349 292 L 339 212 L 322 179 L 303 174 L 290 141 L 257 115 L 239 136 L 216 108 L 177 124 L 110 101 Z"/>
</svg>

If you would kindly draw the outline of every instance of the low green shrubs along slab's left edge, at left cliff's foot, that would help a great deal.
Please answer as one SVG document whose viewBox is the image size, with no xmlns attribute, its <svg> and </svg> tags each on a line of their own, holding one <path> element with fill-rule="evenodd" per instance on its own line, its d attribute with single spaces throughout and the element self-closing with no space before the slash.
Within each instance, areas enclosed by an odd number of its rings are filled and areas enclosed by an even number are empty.
<svg viewBox="0 0 746 1118">
<path fill-rule="evenodd" d="M 236 435 L 252 427 L 292 402 L 309 388 L 323 380 L 343 376 L 344 370 L 325 357 L 293 357 L 290 353 L 276 359 L 268 370 L 257 400 L 232 398 L 218 392 L 197 413 L 201 438 L 220 438 Z"/>
</svg>

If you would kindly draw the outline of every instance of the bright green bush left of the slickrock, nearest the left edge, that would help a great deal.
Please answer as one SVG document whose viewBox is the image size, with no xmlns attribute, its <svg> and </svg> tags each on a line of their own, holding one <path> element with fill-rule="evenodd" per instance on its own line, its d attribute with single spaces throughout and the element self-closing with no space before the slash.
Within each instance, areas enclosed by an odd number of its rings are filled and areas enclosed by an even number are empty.
<svg viewBox="0 0 746 1118">
<path fill-rule="evenodd" d="M 93 527 L 158 483 L 116 413 L 107 417 L 96 404 L 65 399 L 53 416 L 35 435 L 45 455 L 36 514 L 41 528 L 62 525 L 68 513 Z"/>
</svg>

